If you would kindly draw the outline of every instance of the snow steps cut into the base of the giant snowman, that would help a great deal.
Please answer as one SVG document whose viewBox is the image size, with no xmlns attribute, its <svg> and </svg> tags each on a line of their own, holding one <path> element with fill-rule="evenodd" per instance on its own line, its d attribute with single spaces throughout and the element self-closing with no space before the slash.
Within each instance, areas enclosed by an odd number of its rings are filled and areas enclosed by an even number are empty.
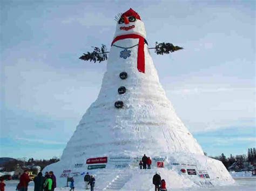
<svg viewBox="0 0 256 191">
<path fill-rule="evenodd" d="M 129 172 L 122 172 L 116 176 L 103 190 L 120 190 L 132 177 Z"/>
</svg>

